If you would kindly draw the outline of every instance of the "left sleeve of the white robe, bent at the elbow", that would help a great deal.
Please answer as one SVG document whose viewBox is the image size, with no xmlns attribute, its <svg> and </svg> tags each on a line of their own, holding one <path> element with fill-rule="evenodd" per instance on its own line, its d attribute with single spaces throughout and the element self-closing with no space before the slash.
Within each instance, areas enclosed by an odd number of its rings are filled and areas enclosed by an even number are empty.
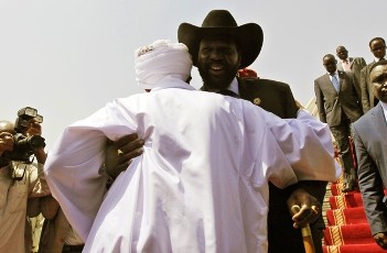
<svg viewBox="0 0 387 253">
<path fill-rule="evenodd" d="M 100 175 L 100 168 L 107 136 L 118 139 L 136 129 L 130 117 L 117 117 L 120 109 L 116 106 L 109 103 L 67 127 L 49 152 L 44 166 L 52 195 L 83 240 L 106 193 L 107 177 Z"/>
</svg>

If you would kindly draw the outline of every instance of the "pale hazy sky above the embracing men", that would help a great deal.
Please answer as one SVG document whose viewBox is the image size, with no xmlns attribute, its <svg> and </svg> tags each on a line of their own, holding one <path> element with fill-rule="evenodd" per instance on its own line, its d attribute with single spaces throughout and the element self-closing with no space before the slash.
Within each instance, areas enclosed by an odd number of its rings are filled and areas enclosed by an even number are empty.
<svg viewBox="0 0 387 253">
<path fill-rule="evenodd" d="M 178 41 L 181 23 L 201 26 L 213 9 L 238 25 L 258 23 L 264 46 L 249 66 L 290 85 L 307 105 L 322 57 L 345 45 L 374 58 L 368 42 L 387 38 L 386 0 L 0 0 L 0 120 L 33 107 L 43 116 L 47 150 L 65 127 L 118 97 L 142 92 L 133 52 L 159 38 Z M 379 14 L 381 12 L 381 14 Z M 197 70 L 191 85 L 201 87 Z"/>
</svg>

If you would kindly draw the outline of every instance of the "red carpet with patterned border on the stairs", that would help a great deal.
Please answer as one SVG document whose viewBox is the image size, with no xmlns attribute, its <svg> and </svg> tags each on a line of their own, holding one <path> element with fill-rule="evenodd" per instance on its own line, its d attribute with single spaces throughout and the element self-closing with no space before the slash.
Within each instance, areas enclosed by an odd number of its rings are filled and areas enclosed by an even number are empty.
<svg viewBox="0 0 387 253">
<path fill-rule="evenodd" d="M 358 191 L 342 193 L 343 179 L 331 184 L 324 230 L 324 253 L 385 253 L 372 237 Z"/>
</svg>

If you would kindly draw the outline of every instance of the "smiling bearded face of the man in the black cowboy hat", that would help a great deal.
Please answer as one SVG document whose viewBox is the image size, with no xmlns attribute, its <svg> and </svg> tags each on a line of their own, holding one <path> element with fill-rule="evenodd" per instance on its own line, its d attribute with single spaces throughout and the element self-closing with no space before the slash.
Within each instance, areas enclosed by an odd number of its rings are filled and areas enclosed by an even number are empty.
<svg viewBox="0 0 387 253">
<path fill-rule="evenodd" d="M 208 89 L 226 89 L 240 65 L 240 54 L 234 41 L 203 38 L 198 48 L 197 69 Z"/>
</svg>

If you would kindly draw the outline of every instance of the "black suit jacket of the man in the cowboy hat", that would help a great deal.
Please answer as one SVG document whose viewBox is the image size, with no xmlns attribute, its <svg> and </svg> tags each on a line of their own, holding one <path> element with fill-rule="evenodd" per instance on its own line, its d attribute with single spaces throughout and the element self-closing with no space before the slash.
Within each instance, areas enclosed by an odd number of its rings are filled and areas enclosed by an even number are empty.
<svg viewBox="0 0 387 253">
<path fill-rule="evenodd" d="M 289 85 L 268 79 L 238 79 L 239 96 L 249 100 L 256 106 L 270 111 L 278 117 L 295 118 L 298 108 Z M 321 204 L 323 202 L 326 182 L 299 182 L 286 189 L 280 189 L 269 184 L 269 215 L 268 215 L 268 241 L 269 253 L 299 253 L 304 252 L 301 231 L 292 227 L 291 216 L 287 206 L 287 200 L 297 188 L 304 188 L 313 195 Z M 314 234 L 319 224 L 312 224 L 315 245 L 321 238 Z M 318 251 L 319 252 L 319 251 Z"/>
</svg>

